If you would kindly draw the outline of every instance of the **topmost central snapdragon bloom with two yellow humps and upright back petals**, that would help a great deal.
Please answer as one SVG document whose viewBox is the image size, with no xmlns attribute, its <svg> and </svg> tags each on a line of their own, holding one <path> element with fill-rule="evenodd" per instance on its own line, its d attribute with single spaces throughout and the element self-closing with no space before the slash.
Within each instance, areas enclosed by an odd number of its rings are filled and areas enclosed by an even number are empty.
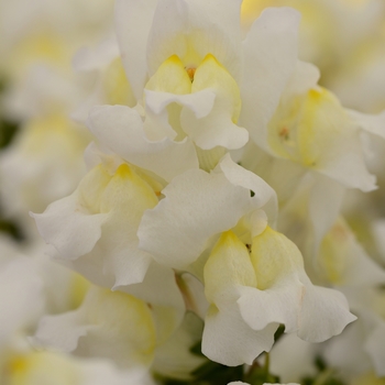
<svg viewBox="0 0 385 385">
<path fill-rule="evenodd" d="M 241 64 L 239 3 L 221 4 L 221 12 L 210 12 L 210 9 L 215 11 L 218 8 L 217 4 L 204 6 L 202 2 L 193 1 L 158 1 L 153 6 L 156 8 L 152 24 L 147 25 L 148 30 L 143 31 L 142 28 L 139 31 L 143 36 L 139 37 L 138 33 L 133 36 L 131 31 L 127 31 L 125 14 L 131 11 L 134 13 L 132 16 L 140 16 L 139 12 L 133 12 L 132 8 L 138 6 L 132 1 L 118 2 L 117 20 L 123 55 L 132 50 L 128 46 L 133 45 L 132 37 L 136 41 L 147 40 L 142 48 L 143 54 L 143 50 L 147 50 L 147 61 L 136 52 L 134 61 L 127 57 L 125 67 L 130 81 L 138 75 L 136 84 L 147 76 L 150 78 L 139 87 L 133 85 L 139 100 L 145 90 L 148 138 L 183 139 L 187 134 L 204 150 L 218 145 L 242 146 L 248 141 L 248 133 L 233 123 L 238 121 L 241 107 L 239 87 L 233 79 L 239 76 Z M 215 23 L 212 16 L 217 19 Z M 144 62 L 141 63 L 144 64 L 142 68 L 138 68 L 139 62 Z M 135 64 L 134 73 L 131 67 Z M 173 107 L 172 103 L 183 108 Z M 177 120 L 178 116 L 179 130 L 177 124 L 170 127 L 167 122 Z M 220 131 L 218 125 L 221 127 Z"/>
</svg>

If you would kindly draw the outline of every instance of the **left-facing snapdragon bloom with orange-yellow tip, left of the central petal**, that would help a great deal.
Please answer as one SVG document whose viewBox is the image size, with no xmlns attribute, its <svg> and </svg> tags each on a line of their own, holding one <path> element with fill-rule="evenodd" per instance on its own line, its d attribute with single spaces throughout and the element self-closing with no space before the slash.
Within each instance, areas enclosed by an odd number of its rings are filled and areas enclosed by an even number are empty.
<svg viewBox="0 0 385 385">
<path fill-rule="evenodd" d="M 154 189 L 133 167 L 121 164 L 111 172 L 100 164 L 73 195 L 33 216 L 63 257 L 92 258 L 91 264 L 101 264 L 98 276 L 112 287 L 143 280 L 151 256 L 136 250 L 135 233 L 143 212 L 156 204 Z"/>
</svg>

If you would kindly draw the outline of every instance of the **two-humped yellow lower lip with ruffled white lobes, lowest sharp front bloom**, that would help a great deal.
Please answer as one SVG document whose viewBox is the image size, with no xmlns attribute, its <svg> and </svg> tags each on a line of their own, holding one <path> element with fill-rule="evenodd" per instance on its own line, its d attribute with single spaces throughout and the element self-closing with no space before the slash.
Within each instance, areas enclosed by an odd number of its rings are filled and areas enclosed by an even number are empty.
<svg viewBox="0 0 385 385">
<path fill-rule="evenodd" d="M 262 336 L 270 327 L 275 326 L 275 330 L 283 323 L 286 332 L 320 342 L 339 334 L 355 319 L 339 292 L 311 284 L 300 252 L 284 235 L 267 227 L 252 239 L 250 250 L 251 254 L 234 233 L 223 233 L 205 265 L 206 295 L 212 306 L 204 332 L 204 351 L 219 353 L 213 341 L 229 327 L 224 318 L 232 302 L 238 305 L 244 322 L 262 331 Z M 238 350 L 244 350 L 241 344 L 245 342 L 233 339 L 230 329 L 227 331 L 228 349 L 239 344 Z M 263 346 L 260 349 L 255 349 L 257 354 Z M 227 364 L 237 364 L 228 360 Z"/>
</svg>

